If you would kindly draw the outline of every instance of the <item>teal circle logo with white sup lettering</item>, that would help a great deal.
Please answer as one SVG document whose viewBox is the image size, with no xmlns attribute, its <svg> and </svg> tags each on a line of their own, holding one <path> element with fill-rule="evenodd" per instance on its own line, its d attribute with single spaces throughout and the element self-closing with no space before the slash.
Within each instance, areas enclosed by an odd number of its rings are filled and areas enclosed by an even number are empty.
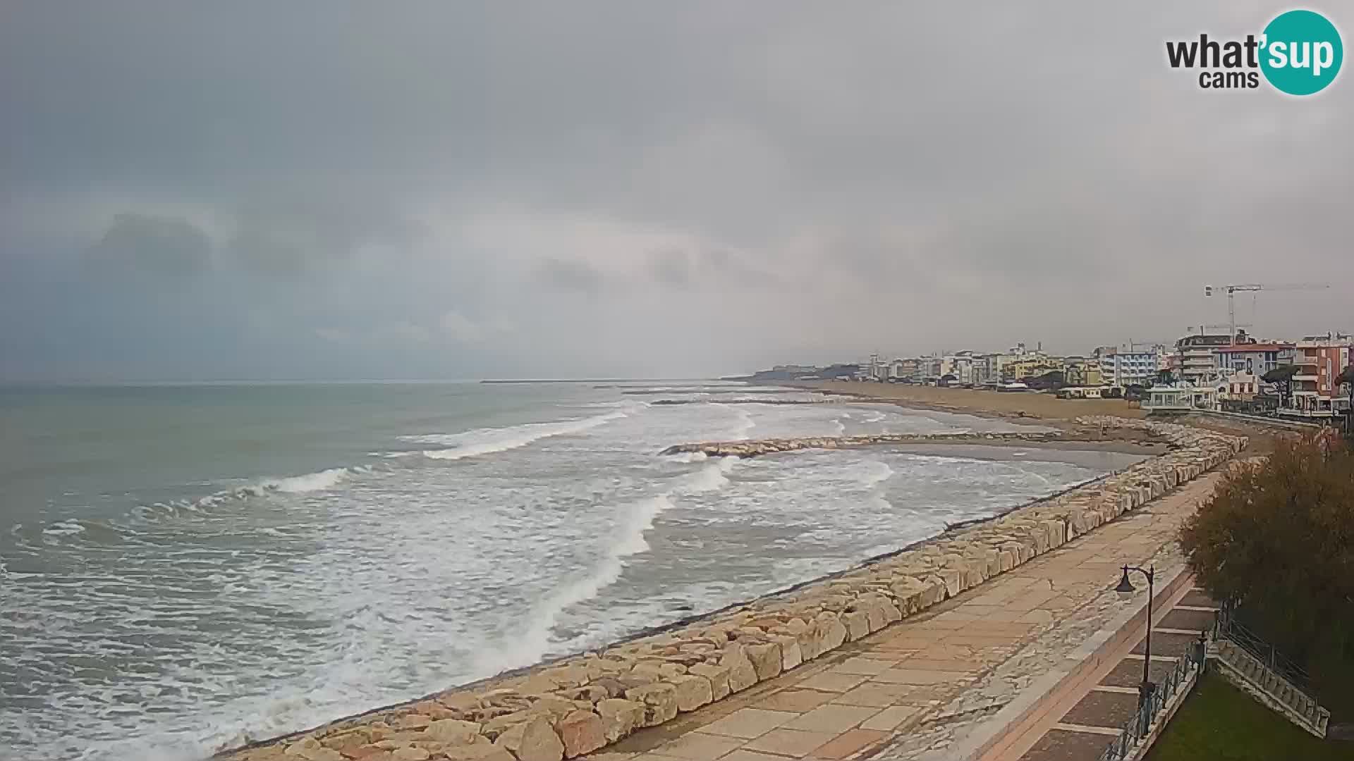
<svg viewBox="0 0 1354 761">
<path fill-rule="evenodd" d="M 1340 32 L 1315 11 L 1288 11 L 1265 27 L 1261 70 L 1281 92 L 1312 95 L 1340 73 L 1345 46 Z"/>
</svg>

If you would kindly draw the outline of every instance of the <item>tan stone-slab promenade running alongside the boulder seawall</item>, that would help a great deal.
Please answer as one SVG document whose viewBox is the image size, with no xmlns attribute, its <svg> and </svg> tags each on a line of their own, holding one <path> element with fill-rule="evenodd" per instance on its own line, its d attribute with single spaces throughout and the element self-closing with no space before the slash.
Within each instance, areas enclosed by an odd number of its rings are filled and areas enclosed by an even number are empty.
<svg viewBox="0 0 1354 761">
<path fill-rule="evenodd" d="M 1006 731 L 1014 708 L 1037 701 L 1051 688 L 1051 673 L 1075 666 L 1085 657 L 1079 649 L 1095 632 L 1143 608 L 1145 590 L 1127 601 L 1110 592 L 1120 566 L 1155 563 L 1167 580 L 1181 573 L 1182 561 L 1173 547 L 1177 529 L 1217 478 L 1206 474 L 925 613 L 673 722 L 639 730 L 588 758 L 992 757 L 994 738 Z M 1136 642 L 1128 639 L 1125 647 Z M 1098 692 L 1124 696 L 1121 689 Z M 1085 691 L 1074 697 L 1064 697 L 1071 703 L 1060 708 L 1080 704 Z M 1057 738 L 1049 731 L 1055 723 L 1070 723 L 1062 720 L 1064 712 L 1055 711 L 1047 727 L 1026 727 L 1024 747 L 997 757 L 1080 758 L 1079 750 L 1068 756 L 1048 747 L 1052 741 L 1034 747 L 1047 737 Z M 1097 714 L 1094 720 L 1109 719 Z M 1079 733 L 1090 735 L 1078 735 L 1085 741 L 1079 746 L 1104 749 L 1110 730 L 1098 729 Z"/>
</svg>

